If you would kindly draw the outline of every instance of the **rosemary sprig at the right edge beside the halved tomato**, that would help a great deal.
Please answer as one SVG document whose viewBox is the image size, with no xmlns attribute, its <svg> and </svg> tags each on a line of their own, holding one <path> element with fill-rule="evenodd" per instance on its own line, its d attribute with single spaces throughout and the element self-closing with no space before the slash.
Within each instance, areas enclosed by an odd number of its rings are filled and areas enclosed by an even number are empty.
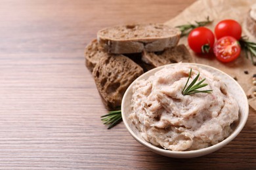
<svg viewBox="0 0 256 170">
<path fill-rule="evenodd" d="M 244 49 L 245 51 L 245 56 L 248 59 L 250 57 L 251 59 L 251 63 L 253 63 L 253 65 L 256 65 L 256 61 L 254 61 L 253 58 L 256 58 L 256 43 L 255 42 L 250 42 L 248 40 L 248 37 L 241 37 L 241 39 L 239 40 L 239 43 L 242 47 L 242 49 Z"/>
</svg>

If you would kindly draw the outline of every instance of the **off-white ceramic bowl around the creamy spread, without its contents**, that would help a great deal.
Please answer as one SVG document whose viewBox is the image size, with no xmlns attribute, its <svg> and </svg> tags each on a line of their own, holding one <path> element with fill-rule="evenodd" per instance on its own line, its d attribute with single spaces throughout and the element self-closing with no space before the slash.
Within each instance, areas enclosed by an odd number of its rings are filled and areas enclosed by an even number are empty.
<svg viewBox="0 0 256 170">
<path fill-rule="evenodd" d="M 136 139 L 140 144 L 143 146 L 146 146 L 146 148 L 149 148 L 153 152 L 156 152 L 157 154 L 161 154 L 163 156 L 168 156 L 172 158 L 194 158 L 198 156 L 203 156 L 206 154 L 210 154 L 211 152 L 215 152 L 216 150 L 219 150 L 224 145 L 228 144 L 230 141 L 232 141 L 243 129 L 248 113 L 249 113 L 249 105 L 247 101 L 247 97 L 244 93 L 244 90 L 241 88 L 241 86 L 232 78 L 231 76 L 227 75 L 223 71 L 220 71 L 219 69 L 215 69 L 213 67 L 210 67 L 208 65 L 202 65 L 198 63 L 182 63 L 182 64 L 190 64 L 190 65 L 196 65 L 202 69 L 205 69 L 209 71 L 210 73 L 213 73 L 215 76 L 218 76 L 221 78 L 221 80 L 228 86 L 229 92 L 232 93 L 236 101 L 238 101 L 239 105 L 239 122 L 236 126 L 236 129 L 233 131 L 233 133 L 221 141 L 220 143 L 217 143 L 213 146 L 209 146 L 207 148 L 202 148 L 199 150 L 190 150 L 190 151 L 172 151 L 172 150 L 165 150 L 163 148 L 159 148 L 158 146 L 154 146 L 153 144 L 148 143 L 145 141 L 142 137 L 139 135 L 139 130 L 133 125 L 131 120 L 129 120 L 128 116 L 132 112 L 131 107 L 131 97 L 133 94 L 133 86 L 137 80 L 141 79 L 147 79 L 149 76 L 154 75 L 157 71 L 160 69 L 163 69 L 165 66 L 157 67 L 156 69 L 152 69 L 151 71 L 148 71 L 144 73 L 143 75 L 139 76 L 126 90 L 125 95 L 123 96 L 123 101 L 121 103 L 121 114 L 123 118 L 123 122 L 125 124 L 125 127 L 128 129 L 129 133 Z M 170 64 L 170 66 L 174 66 L 176 64 Z"/>
</svg>

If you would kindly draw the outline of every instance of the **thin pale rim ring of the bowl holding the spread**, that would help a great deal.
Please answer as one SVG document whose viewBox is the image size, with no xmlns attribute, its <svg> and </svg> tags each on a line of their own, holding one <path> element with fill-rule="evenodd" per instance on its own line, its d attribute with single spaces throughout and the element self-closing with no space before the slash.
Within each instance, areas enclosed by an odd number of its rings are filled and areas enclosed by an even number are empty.
<svg viewBox="0 0 256 170">
<path fill-rule="evenodd" d="M 243 93 L 243 97 L 246 99 L 245 103 L 246 103 L 246 106 L 245 106 L 245 111 L 244 111 L 244 119 L 243 120 L 240 120 L 238 126 L 236 127 L 236 129 L 232 132 L 231 135 L 229 135 L 226 139 L 224 139 L 223 141 L 221 141 L 220 143 L 217 143 L 217 144 L 214 144 L 212 146 L 209 146 L 207 148 L 201 148 L 201 149 L 198 149 L 198 150 L 188 150 L 188 151 L 173 151 L 173 150 L 165 150 L 164 148 L 159 148 L 158 146 L 154 146 L 153 144 L 151 143 L 148 143 L 147 141 L 144 141 L 143 139 L 140 139 L 140 137 L 138 135 L 136 135 L 133 130 L 131 129 L 131 127 L 129 126 L 126 118 L 125 118 L 125 108 L 124 108 L 124 103 L 125 103 L 125 98 L 127 97 L 128 95 L 128 92 L 131 90 L 131 88 L 134 86 L 134 84 L 137 82 L 137 80 L 141 77 L 141 76 L 144 76 L 145 74 L 147 75 L 150 75 L 150 73 L 154 72 L 156 73 L 156 71 L 160 71 L 161 69 L 163 69 L 164 67 L 169 67 L 169 66 L 174 66 L 174 65 L 177 65 L 177 64 L 188 64 L 188 65 L 196 65 L 196 66 L 201 66 L 201 67 L 209 67 L 209 69 L 213 69 L 217 72 L 220 72 L 222 73 L 223 75 L 226 75 L 228 76 L 228 78 L 230 78 L 230 80 L 232 80 L 238 87 L 239 89 L 242 91 Z M 203 69 L 203 68 L 202 68 Z M 127 130 L 129 131 L 129 133 L 131 134 L 131 136 L 136 139 L 136 141 L 138 141 L 140 144 L 142 144 L 143 146 L 146 146 L 147 148 L 149 148 L 150 150 L 154 151 L 154 152 L 158 152 L 158 153 L 161 153 L 163 155 L 187 155 L 187 154 L 200 154 L 202 152 L 205 152 L 206 154 L 207 153 L 211 153 L 211 152 L 214 152 L 215 150 L 218 150 L 219 148 L 223 147 L 224 145 L 230 143 L 230 141 L 232 141 L 239 133 L 240 131 L 242 131 L 242 129 L 244 128 L 245 126 L 245 123 L 247 122 L 247 118 L 248 118 L 248 115 L 249 115 L 249 103 L 248 103 L 248 100 L 247 100 L 247 95 L 245 94 L 244 90 L 242 89 L 242 87 L 240 86 L 240 84 L 238 84 L 238 82 L 236 80 L 234 80 L 234 78 L 232 78 L 230 75 L 224 73 L 223 71 L 215 68 L 215 67 L 211 67 L 209 65 L 204 65 L 204 64 L 200 64 L 200 63 L 171 63 L 171 64 L 168 64 L 168 65 L 162 65 L 160 67 L 156 67 L 142 75 L 140 75 L 138 78 L 136 78 L 131 84 L 130 86 L 127 88 L 127 90 L 125 91 L 125 94 L 123 95 L 123 100 L 121 102 L 121 116 L 122 116 L 122 119 L 123 119 L 123 123 L 125 124 L 125 127 L 127 128 Z"/>
</svg>

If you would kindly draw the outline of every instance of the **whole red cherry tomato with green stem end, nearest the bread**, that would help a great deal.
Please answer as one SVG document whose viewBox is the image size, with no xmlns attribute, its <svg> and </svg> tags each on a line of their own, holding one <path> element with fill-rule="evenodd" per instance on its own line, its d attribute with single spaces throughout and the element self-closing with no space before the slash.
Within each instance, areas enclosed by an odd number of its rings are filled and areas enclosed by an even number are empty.
<svg viewBox="0 0 256 170">
<path fill-rule="evenodd" d="M 196 53 L 208 53 L 213 48 L 215 37 L 206 27 L 197 27 L 188 35 L 188 45 Z"/>
</svg>

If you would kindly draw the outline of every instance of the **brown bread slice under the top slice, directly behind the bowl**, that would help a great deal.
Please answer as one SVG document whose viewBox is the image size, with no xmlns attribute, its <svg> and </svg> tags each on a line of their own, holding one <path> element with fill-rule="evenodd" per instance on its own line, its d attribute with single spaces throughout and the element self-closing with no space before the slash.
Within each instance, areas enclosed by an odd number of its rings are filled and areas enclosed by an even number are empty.
<svg viewBox="0 0 256 170">
<path fill-rule="evenodd" d="M 184 44 L 180 44 L 173 48 L 163 50 L 162 52 L 144 51 L 142 53 L 142 61 L 152 65 L 153 67 L 159 67 L 169 63 L 179 63 L 181 61 L 184 63 L 190 63 L 192 62 L 192 56 L 186 46 L 184 46 Z"/>
</svg>

